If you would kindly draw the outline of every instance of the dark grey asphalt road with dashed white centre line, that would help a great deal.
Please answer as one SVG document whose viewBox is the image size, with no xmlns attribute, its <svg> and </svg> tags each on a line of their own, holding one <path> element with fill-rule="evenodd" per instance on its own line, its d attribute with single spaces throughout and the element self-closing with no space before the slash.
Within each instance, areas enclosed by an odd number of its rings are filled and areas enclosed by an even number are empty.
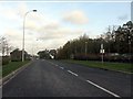
<svg viewBox="0 0 133 99">
<path fill-rule="evenodd" d="M 130 97 L 131 75 L 38 59 L 8 81 L 3 97 Z"/>
</svg>

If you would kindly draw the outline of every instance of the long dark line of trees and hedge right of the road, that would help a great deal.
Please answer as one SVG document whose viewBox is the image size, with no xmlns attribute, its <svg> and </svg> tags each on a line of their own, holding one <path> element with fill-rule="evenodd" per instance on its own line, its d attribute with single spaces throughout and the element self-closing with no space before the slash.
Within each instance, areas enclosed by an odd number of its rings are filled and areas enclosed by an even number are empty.
<svg viewBox="0 0 133 99">
<path fill-rule="evenodd" d="M 108 32 L 98 38 L 90 38 L 84 34 L 79 38 L 68 41 L 57 50 L 58 59 L 92 59 L 100 61 L 100 48 L 103 44 L 105 61 L 131 62 L 133 59 L 133 23 L 109 26 Z"/>
</svg>

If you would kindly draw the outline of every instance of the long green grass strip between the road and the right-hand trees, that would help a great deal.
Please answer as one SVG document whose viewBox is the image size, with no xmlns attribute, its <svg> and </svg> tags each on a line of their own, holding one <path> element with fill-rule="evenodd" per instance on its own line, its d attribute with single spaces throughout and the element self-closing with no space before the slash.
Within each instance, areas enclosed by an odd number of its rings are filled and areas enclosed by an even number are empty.
<svg viewBox="0 0 133 99">
<path fill-rule="evenodd" d="M 94 62 L 94 61 L 65 61 L 68 63 L 81 64 L 89 67 L 104 68 L 111 70 L 121 70 L 124 73 L 133 73 L 133 64 L 130 63 L 112 63 L 112 62 Z"/>
</svg>

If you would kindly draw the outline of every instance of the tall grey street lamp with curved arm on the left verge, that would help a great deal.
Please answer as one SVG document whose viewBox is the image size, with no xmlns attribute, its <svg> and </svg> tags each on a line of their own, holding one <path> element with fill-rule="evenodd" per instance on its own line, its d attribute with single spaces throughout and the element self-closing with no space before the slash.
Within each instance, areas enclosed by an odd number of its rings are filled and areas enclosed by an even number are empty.
<svg viewBox="0 0 133 99">
<path fill-rule="evenodd" d="M 28 13 L 30 12 L 37 12 L 37 10 L 31 10 L 31 11 L 28 11 L 25 14 L 24 14 L 24 19 L 23 19 L 23 38 L 22 38 L 22 62 L 24 62 L 24 24 L 25 24 L 25 16 Z"/>
</svg>

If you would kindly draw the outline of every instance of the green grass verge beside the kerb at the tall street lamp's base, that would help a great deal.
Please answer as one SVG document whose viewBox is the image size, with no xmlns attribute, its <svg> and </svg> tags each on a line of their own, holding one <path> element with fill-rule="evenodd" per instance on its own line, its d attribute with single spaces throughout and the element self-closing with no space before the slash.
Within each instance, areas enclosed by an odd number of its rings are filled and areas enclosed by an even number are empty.
<svg viewBox="0 0 133 99">
<path fill-rule="evenodd" d="M 10 62 L 7 65 L 2 66 L 2 77 L 9 75 L 13 70 L 18 69 L 19 67 L 23 66 L 24 64 L 29 63 L 30 61 L 25 62 Z"/>
</svg>

